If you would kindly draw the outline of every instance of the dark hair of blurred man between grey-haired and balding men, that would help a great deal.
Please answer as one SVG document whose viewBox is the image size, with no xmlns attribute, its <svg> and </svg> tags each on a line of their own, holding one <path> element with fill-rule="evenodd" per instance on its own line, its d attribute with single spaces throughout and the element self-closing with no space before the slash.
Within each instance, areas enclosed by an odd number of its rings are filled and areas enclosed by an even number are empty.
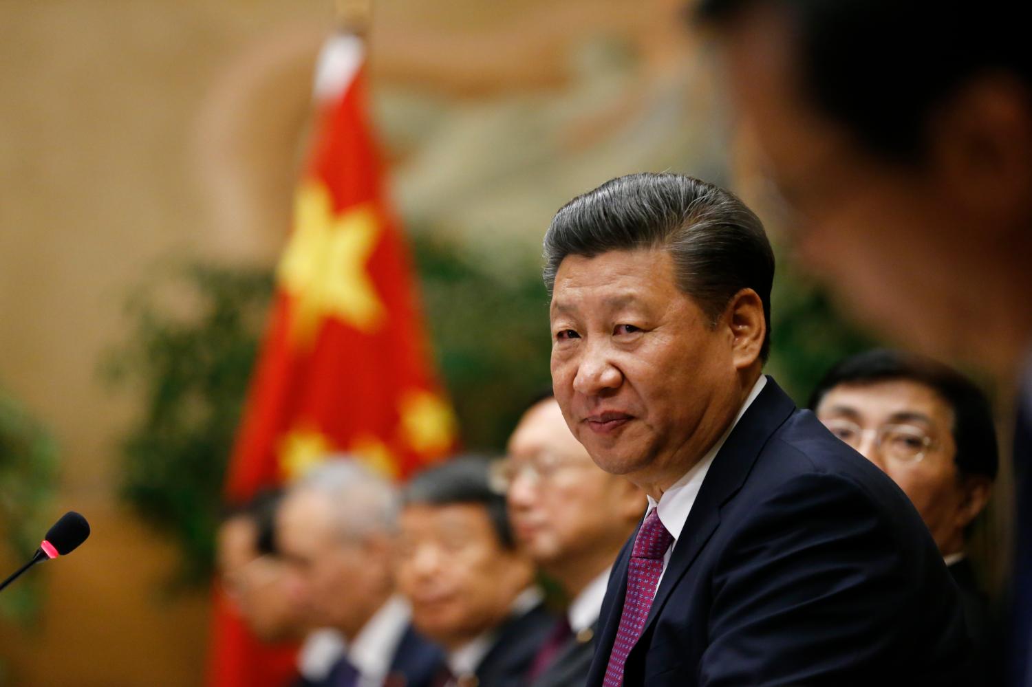
<svg viewBox="0 0 1032 687">
<path fill-rule="evenodd" d="M 479 503 L 487 510 L 498 542 L 515 547 L 505 494 L 491 488 L 490 460 L 465 455 L 415 475 L 401 493 L 402 505 Z"/>
</svg>

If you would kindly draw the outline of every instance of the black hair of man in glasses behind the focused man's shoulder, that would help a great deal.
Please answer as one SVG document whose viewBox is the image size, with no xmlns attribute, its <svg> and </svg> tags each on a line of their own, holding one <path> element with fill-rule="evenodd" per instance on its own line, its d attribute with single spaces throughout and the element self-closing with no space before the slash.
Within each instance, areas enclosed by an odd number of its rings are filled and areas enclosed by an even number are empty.
<svg viewBox="0 0 1032 687">
<path fill-rule="evenodd" d="M 989 399 L 969 379 L 930 358 L 889 349 L 850 356 L 828 371 L 810 396 L 810 407 L 816 411 L 825 395 L 838 386 L 900 380 L 928 387 L 954 412 L 954 462 L 961 475 L 995 480 L 999 456 Z"/>
</svg>

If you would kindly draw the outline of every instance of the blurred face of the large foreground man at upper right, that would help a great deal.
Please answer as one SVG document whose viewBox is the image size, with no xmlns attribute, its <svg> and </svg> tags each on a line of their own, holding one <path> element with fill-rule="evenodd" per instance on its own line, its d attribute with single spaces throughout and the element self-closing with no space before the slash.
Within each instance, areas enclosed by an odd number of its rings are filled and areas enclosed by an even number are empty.
<svg viewBox="0 0 1032 687">
<path fill-rule="evenodd" d="M 745 12 L 728 33 L 728 81 L 781 195 L 793 247 L 868 326 L 929 354 L 970 356 L 985 224 L 935 168 L 867 151 L 804 95 L 796 42 L 777 10 Z M 892 107 L 892 103 L 885 103 Z"/>
</svg>

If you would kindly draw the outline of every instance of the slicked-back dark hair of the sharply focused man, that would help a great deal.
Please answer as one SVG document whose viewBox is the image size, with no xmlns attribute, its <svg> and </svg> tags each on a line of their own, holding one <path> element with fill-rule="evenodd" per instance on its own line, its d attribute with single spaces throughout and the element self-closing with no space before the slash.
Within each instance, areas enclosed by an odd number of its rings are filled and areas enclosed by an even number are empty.
<svg viewBox="0 0 1032 687">
<path fill-rule="evenodd" d="M 663 249 L 678 287 L 712 326 L 736 293 L 752 289 L 764 306 L 767 360 L 774 252 L 760 219 L 734 194 L 683 174 L 641 173 L 606 182 L 562 206 L 545 233 L 545 286 L 570 255 Z"/>
</svg>

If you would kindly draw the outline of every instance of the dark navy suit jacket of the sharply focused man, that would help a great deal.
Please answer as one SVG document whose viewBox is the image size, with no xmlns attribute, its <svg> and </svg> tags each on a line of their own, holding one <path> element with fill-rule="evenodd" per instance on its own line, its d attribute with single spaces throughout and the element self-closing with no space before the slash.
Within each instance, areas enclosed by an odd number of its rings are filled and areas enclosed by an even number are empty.
<svg viewBox="0 0 1032 687">
<path fill-rule="evenodd" d="M 613 568 L 587 684 L 627 581 Z M 768 379 L 714 459 L 627 657 L 624 685 L 963 684 L 957 587 L 875 465 Z"/>
</svg>

